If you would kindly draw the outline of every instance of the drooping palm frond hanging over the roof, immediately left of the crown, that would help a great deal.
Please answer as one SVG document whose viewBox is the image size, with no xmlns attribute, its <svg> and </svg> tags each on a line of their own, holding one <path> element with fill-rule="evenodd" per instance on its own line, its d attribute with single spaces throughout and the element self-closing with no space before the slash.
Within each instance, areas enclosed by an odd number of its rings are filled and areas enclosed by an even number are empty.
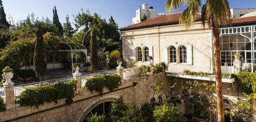
<svg viewBox="0 0 256 122">
<path fill-rule="evenodd" d="M 199 13 L 200 6 L 201 0 L 189 1 L 187 9 L 180 16 L 180 24 L 184 24 L 188 29 L 196 21 L 196 15 Z"/>
</svg>

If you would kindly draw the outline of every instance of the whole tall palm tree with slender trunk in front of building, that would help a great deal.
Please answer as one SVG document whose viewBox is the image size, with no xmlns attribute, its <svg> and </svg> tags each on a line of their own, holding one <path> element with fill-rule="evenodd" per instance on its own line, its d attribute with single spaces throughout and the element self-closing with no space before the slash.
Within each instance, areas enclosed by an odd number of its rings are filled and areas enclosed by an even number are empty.
<svg viewBox="0 0 256 122">
<path fill-rule="evenodd" d="M 204 1 L 204 0 L 203 0 Z M 202 0 L 167 0 L 166 9 L 168 11 L 180 9 L 187 5 L 187 9 L 180 16 L 180 23 L 186 28 L 190 27 L 196 21 L 196 15 L 201 9 Z M 218 121 L 224 121 L 224 101 L 221 81 L 221 61 L 220 61 L 220 25 L 229 23 L 230 9 L 228 0 L 207 0 L 201 9 L 201 20 L 205 28 L 206 22 L 208 27 L 212 27 L 214 41 L 214 66 L 217 91 L 217 110 Z"/>
</svg>

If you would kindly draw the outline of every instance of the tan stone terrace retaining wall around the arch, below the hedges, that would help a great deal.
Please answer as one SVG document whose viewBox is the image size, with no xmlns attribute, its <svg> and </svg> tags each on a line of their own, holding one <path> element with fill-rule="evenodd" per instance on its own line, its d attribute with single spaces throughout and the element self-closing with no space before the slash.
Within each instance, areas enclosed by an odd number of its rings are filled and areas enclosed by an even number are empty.
<svg viewBox="0 0 256 122">
<path fill-rule="evenodd" d="M 114 100 L 123 96 L 125 102 L 135 102 L 141 106 L 144 102 L 150 102 L 154 90 L 151 86 L 165 78 L 164 73 L 151 74 L 142 77 L 126 79 L 123 81 L 119 89 L 110 92 L 104 90 L 102 95 L 97 92 L 90 92 L 87 89 L 82 89 L 76 92 L 73 103 L 68 105 L 65 99 L 55 103 L 45 103 L 43 106 L 36 107 L 21 107 L 15 104 L 5 112 L 0 112 L 0 121 L 82 121 L 86 114 L 97 104 L 101 102 Z M 136 86 L 133 82 L 138 82 Z"/>
</svg>

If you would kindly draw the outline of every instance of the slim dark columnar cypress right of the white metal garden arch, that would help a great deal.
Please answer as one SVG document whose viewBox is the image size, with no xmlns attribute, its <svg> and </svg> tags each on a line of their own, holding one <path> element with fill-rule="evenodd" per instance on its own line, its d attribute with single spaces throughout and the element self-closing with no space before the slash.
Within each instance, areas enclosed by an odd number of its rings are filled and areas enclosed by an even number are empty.
<svg viewBox="0 0 256 122">
<path fill-rule="evenodd" d="M 96 31 L 94 30 L 94 28 L 92 28 L 92 35 L 90 40 L 90 65 L 92 66 L 92 71 L 98 70 L 98 44 Z"/>
</svg>

